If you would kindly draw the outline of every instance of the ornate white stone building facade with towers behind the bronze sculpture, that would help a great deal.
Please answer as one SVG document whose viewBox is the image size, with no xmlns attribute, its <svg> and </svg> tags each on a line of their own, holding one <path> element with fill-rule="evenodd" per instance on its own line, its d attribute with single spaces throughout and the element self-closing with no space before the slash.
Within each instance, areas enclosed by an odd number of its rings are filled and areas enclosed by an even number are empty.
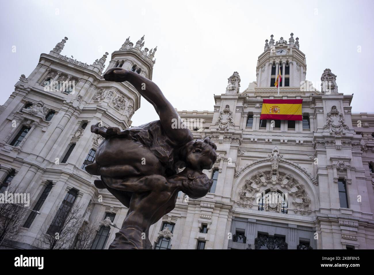
<svg viewBox="0 0 374 275">
<path fill-rule="evenodd" d="M 18 247 L 35 244 L 41 225 L 70 190 L 74 203 L 84 205 L 84 222 L 107 220 L 97 229 L 96 249 L 108 248 L 118 231 L 110 220 L 120 225 L 127 213 L 110 193 L 93 186 L 97 177 L 84 165 L 101 142 L 90 125 L 128 128 L 140 95 L 126 82 L 109 86 L 102 79 L 108 53 L 92 65 L 62 56 L 66 40 L 40 56 L 0 109 L 3 190 L 26 189 L 32 208 L 52 186 L 41 214 L 22 227 Z M 313 87 L 298 40 L 292 33 L 288 40 L 266 40 L 256 81 L 240 91 L 234 72 L 226 92 L 214 95 L 214 111 L 178 111 L 195 138 L 217 144 L 217 161 L 204 171 L 214 185 L 201 199 L 179 194 L 175 209 L 150 228 L 155 249 L 374 248 L 374 114 L 352 113 L 353 95 L 338 92 L 329 69 L 320 91 Z M 127 39 L 111 54 L 108 68 L 151 79 L 157 47 L 143 46 L 144 36 L 135 46 Z M 278 94 L 273 83 L 279 69 Z M 60 80 L 74 89 L 49 84 Z M 303 120 L 260 120 L 263 99 L 302 99 Z"/>
</svg>

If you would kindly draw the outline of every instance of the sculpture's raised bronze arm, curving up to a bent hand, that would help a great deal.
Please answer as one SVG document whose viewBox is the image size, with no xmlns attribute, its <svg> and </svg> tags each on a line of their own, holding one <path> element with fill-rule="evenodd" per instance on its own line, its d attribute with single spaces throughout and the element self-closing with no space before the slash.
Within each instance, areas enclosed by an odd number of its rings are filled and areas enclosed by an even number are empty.
<svg viewBox="0 0 374 275">
<path fill-rule="evenodd" d="M 177 144 L 193 140 L 189 129 L 181 126 L 180 116 L 171 103 L 162 94 L 160 88 L 151 80 L 122 68 L 111 68 L 104 74 L 104 79 L 114 82 L 130 82 L 135 89 L 150 102 L 160 117 L 166 135 Z"/>
</svg>

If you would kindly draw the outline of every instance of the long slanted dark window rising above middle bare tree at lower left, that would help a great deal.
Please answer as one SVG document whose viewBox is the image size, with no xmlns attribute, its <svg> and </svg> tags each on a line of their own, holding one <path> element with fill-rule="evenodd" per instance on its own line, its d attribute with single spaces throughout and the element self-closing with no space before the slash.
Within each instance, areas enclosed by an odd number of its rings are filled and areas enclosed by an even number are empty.
<svg viewBox="0 0 374 275">
<path fill-rule="evenodd" d="M 70 189 L 69 192 L 67 192 L 64 200 L 57 210 L 56 216 L 53 218 L 53 221 L 47 230 L 47 234 L 55 235 L 56 232 L 59 232 L 61 230 L 62 226 L 69 216 L 71 207 L 73 207 L 77 195 L 78 191 L 75 189 Z"/>
</svg>

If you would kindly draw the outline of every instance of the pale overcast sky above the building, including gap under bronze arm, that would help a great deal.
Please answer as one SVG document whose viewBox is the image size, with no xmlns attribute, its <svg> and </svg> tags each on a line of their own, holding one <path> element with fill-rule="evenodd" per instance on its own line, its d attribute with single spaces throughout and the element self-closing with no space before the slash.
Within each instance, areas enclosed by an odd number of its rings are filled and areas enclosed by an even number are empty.
<svg viewBox="0 0 374 275">
<path fill-rule="evenodd" d="M 173 106 L 213 110 L 213 94 L 225 92 L 233 71 L 240 92 L 256 80 L 257 58 L 270 34 L 288 40 L 293 32 L 306 54 L 308 80 L 320 81 L 330 68 L 339 92 L 355 94 L 354 112 L 374 111 L 373 6 L 369 0 L 1 1 L 0 104 L 40 54 L 65 36 L 61 54 L 92 64 L 128 36 L 135 44 L 144 34 L 144 48 L 157 46 L 153 81 Z M 132 125 L 156 119 L 142 98 Z"/>
</svg>

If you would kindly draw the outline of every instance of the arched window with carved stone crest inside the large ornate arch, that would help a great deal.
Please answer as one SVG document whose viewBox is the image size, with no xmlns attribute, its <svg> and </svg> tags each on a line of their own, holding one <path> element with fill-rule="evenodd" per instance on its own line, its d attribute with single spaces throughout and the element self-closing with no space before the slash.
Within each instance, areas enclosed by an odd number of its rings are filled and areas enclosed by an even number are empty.
<svg viewBox="0 0 374 275">
<path fill-rule="evenodd" d="M 287 197 L 279 191 L 267 190 L 258 202 L 258 210 L 287 214 Z"/>
</svg>

